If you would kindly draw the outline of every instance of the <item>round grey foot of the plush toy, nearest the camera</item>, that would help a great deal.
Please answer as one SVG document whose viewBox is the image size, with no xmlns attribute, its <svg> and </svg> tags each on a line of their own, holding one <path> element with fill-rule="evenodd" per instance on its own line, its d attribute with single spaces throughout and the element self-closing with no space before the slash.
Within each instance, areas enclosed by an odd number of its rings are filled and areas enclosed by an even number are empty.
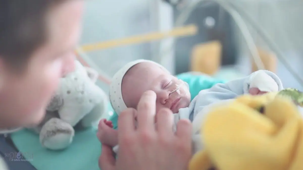
<svg viewBox="0 0 303 170">
<path fill-rule="evenodd" d="M 51 150 L 67 148 L 75 135 L 74 128 L 58 118 L 50 119 L 42 127 L 40 132 L 40 143 L 43 147 Z"/>
</svg>

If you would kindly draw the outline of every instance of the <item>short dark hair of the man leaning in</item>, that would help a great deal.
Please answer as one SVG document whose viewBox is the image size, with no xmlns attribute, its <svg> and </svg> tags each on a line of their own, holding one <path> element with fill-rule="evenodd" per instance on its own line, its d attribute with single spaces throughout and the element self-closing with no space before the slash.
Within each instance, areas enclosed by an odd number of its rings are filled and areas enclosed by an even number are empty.
<svg viewBox="0 0 303 170">
<path fill-rule="evenodd" d="M 48 38 L 46 14 L 66 0 L 0 0 L 0 57 L 15 70 Z"/>
</svg>

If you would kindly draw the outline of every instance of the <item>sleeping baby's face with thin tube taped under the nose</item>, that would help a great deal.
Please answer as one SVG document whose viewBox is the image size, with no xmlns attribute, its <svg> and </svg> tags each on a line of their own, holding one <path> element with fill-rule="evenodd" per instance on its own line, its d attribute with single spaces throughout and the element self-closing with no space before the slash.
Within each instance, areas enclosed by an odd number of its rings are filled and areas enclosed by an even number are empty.
<svg viewBox="0 0 303 170">
<path fill-rule="evenodd" d="M 181 84 L 175 76 L 162 70 L 158 65 L 148 62 L 136 64 L 125 75 L 122 81 L 122 96 L 127 107 L 136 108 L 140 97 L 147 90 L 157 94 L 156 110 L 168 108 L 173 113 L 189 106 L 189 89 L 183 85 L 179 93 L 174 92 L 176 85 Z"/>
</svg>

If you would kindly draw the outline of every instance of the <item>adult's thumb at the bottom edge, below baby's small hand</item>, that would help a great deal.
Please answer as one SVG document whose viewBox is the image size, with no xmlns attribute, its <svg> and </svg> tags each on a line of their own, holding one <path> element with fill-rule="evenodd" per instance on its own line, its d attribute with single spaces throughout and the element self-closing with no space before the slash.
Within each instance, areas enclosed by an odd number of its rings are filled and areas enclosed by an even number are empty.
<svg viewBox="0 0 303 170">
<path fill-rule="evenodd" d="M 112 147 L 102 144 L 102 152 L 98 164 L 102 170 L 115 170 L 115 158 Z"/>
</svg>

